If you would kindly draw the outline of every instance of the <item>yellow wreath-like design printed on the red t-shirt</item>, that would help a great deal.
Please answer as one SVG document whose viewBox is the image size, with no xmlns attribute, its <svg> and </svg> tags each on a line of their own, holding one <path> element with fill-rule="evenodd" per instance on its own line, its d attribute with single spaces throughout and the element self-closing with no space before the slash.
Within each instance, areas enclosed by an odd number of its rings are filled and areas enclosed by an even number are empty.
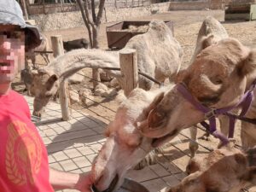
<svg viewBox="0 0 256 192">
<path fill-rule="evenodd" d="M 42 161 L 42 146 L 38 136 L 19 120 L 8 126 L 9 137 L 6 145 L 6 172 L 9 180 L 16 185 L 34 184 Z"/>
</svg>

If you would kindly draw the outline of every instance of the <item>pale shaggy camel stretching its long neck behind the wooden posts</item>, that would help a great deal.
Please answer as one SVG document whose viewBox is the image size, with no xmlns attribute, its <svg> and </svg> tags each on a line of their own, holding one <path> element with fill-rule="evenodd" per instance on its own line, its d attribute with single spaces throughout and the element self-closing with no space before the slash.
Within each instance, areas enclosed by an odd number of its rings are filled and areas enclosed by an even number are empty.
<svg viewBox="0 0 256 192">
<path fill-rule="evenodd" d="M 182 49 L 165 22 L 153 20 L 148 32 L 130 39 L 125 49 L 137 49 L 138 69 L 163 82 L 174 80 L 179 71 Z M 84 67 L 119 67 L 119 55 L 112 55 L 99 49 L 79 49 L 57 57 L 48 67 L 34 74 L 31 93 L 35 95 L 34 115 L 40 116 L 51 96 L 59 88 L 59 82 L 67 79 Z M 122 84 L 119 72 L 106 71 Z M 149 90 L 153 82 L 139 77 L 139 86 Z"/>
</svg>

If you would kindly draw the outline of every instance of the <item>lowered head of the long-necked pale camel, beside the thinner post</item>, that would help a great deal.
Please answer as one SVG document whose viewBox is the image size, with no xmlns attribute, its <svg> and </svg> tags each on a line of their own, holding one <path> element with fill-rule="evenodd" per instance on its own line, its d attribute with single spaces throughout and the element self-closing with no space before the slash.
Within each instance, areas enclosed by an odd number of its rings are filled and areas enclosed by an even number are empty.
<svg viewBox="0 0 256 192">
<path fill-rule="evenodd" d="M 55 96 L 58 89 L 59 81 L 55 73 L 46 71 L 45 69 L 33 71 L 30 91 L 35 96 L 35 99 L 32 114 L 41 117 L 45 106 L 48 104 L 50 98 Z"/>
</svg>

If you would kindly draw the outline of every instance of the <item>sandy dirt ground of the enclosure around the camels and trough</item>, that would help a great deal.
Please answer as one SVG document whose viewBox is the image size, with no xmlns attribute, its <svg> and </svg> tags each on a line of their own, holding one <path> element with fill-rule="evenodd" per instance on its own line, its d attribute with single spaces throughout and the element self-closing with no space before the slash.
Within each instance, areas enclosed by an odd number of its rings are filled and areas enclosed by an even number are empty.
<svg viewBox="0 0 256 192">
<path fill-rule="evenodd" d="M 165 14 L 151 15 L 142 18 L 136 18 L 132 20 L 172 20 L 174 21 L 174 36 L 177 41 L 183 47 L 183 64 L 182 68 L 186 68 L 189 65 L 191 56 L 194 53 L 195 42 L 197 38 L 197 33 L 199 32 L 201 22 L 207 17 L 207 15 L 212 15 L 216 19 L 220 20 L 221 23 L 226 28 L 230 37 L 237 38 L 242 44 L 249 47 L 256 47 L 256 21 L 224 21 L 224 11 L 223 10 L 201 10 L 201 11 L 172 11 Z M 102 24 L 99 42 L 101 49 L 108 49 L 106 26 L 110 26 L 113 23 Z M 50 38 L 52 35 L 61 35 L 63 40 L 73 40 L 75 38 L 87 38 L 87 30 L 85 26 L 80 28 L 65 29 L 58 31 L 44 32 L 44 34 Z M 49 41 L 50 42 L 50 41 Z M 38 63 L 44 63 L 41 58 L 38 58 Z M 90 69 L 85 70 L 85 74 L 91 77 Z M 83 86 L 92 89 L 92 84 L 90 79 L 85 79 Z M 116 96 L 109 98 L 94 97 L 94 102 L 90 106 L 73 106 L 73 108 L 80 108 L 86 111 L 97 119 L 108 123 L 113 119 L 116 109 L 118 108 L 118 103 Z M 236 137 L 240 136 L 239 124 L 236 125 Z M 216 144 L 216 140 L 213 143 Z M 212 146 L 212 142 L 203 142 L 207 146 Z"/>
</svg>

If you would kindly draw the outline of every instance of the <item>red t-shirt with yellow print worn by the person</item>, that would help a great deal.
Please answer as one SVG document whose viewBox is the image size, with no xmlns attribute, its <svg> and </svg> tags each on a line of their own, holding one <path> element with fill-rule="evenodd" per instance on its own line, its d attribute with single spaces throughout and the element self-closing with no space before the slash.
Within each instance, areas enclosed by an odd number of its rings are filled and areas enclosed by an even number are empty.
<svg viewBox="0 0 256 192">
<path fill-rule="evenodd" d="M 53 192 L 47 151 L 23 96 L 0 95 L 0 191 Z"/>
</svg>

